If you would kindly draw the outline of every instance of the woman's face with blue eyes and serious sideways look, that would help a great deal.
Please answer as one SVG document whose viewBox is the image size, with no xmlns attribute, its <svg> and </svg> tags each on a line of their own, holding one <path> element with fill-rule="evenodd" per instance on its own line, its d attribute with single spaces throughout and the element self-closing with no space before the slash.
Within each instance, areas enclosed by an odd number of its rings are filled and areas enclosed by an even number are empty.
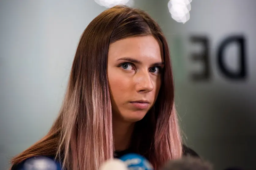
<svg viewBox="0 0 256 170">
<path fill-rule="evenodd" d="M 109 47 L 107 78 L 113 119 L 136 122 L 154 105 L 164 67 L 153 36 L 130 37 Z"/>
</svg>

